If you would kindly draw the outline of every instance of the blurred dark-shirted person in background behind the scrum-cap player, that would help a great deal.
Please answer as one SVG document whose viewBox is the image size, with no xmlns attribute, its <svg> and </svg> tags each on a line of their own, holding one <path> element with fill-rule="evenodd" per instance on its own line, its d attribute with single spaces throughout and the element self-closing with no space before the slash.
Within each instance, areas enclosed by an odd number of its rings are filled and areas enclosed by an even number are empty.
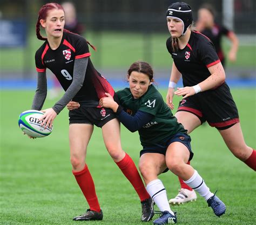
<svg viewBox="0 0 256 225">
<path fill-rule="evenodd" d="M 223 67 L 225 66 L 225 56 L 221 47 L 221 38 L 226 36 L 231 41 L 231 49 L 228 52 L 228 60 L 235 62 L 237 60 L 238 38 L 235 33 L 228 30 L 223 25 L 217 24 L 214 21 L 215 10 L 210 4 L 202 5 L 198 10 L 198 21 L 196 28 L 203 35 L 210 38 L 218 53 L 218 57 Z"/>
</svg>

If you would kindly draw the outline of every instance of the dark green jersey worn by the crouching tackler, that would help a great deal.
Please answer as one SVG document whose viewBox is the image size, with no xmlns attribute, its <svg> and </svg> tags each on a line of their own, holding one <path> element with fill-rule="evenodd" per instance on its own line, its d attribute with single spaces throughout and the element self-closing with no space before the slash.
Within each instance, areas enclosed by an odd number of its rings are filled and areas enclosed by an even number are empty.
<svg viewBox="0 0 256 225">
<path fill-rule="evenodd" d="M 153 85 L 150 85 L 147 92 L 138 99 L 133 98 L 130 88 L 118 91 L 117 97 L 119 104 L 130 115 L 142 111 L 154 116 L 150 122 L 139 129 L 140 142 L 143 146 L 160 145 L 172 135 L 186 132 Z"/>
</svg>

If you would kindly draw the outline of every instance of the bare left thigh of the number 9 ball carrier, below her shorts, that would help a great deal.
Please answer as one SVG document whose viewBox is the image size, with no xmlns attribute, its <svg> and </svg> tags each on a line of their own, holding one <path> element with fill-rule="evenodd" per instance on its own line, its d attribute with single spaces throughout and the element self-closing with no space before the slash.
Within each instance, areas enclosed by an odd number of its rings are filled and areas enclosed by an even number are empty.
<svg viewBox="0 0 256 225">
<path fill-rule="evenodd" d="M 70 124 L 69 144 L 71 158 L 82 158 L 86 156 L 86 148 L 91 139 L 93 125 L 91 124 Z"/>
</svg>

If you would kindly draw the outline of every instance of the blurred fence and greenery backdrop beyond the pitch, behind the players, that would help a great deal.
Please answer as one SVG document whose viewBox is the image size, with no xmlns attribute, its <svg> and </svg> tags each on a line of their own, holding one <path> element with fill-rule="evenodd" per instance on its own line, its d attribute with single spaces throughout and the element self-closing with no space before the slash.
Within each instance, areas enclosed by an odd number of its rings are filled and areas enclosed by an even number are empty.
<svg viewBox="0 0 256 225">
<path fill-rule="evenodd" d="M 4 79 L 35 78 L 35 52 L 43 44 L 36 38 L 35 24 L 39 8 L 49 1 L 0 0 L 0 76 Z M 54 1 L 53 1 L 54 2 Z M 63 3 L 63 1 L 56 1 Z M 151 63 L 159 77 L 169 78 L 172 60 L 165 47 L 170 36 L 165 12 L 170 0 L 73 0 L 83 36 L 97 47 L 93 64 L 108 76 L 124 78 L 126 69 L 136 60 Z M 217 11 L 217 22 L 234 30 L 239 37 L 237 62 L 227 62 L 230 78 L 255 78 L 256 1 L 187 0 L 194 21 L 203 3 Z M 224 49 L 230 43 L 223 41 Z M 227 52 L 227 51 L 226 51 Z M 157 74 L 156 74 L 157 75 Z M 255 80 L 254 80 L 255 81 Z"/>
</svg>

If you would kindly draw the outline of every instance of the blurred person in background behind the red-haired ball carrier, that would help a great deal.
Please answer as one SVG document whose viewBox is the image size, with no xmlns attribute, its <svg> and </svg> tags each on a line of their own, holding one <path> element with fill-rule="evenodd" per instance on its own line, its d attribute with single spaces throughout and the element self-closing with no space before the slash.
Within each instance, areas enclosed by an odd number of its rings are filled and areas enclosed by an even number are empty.
<svg viewBox="0 0 256 225">
<path fill-rule="evenodd" d="M 80 24 L 77 20 L 76 8 L 75 5 L 71 2 L 62 3 L 62 7 L 65 11 L 65 25 L 64 29 L 69 30 L 78 35 L 82 35 L 84 31 L 84 26 Z M 54 99 L 59 96 L 62 92 L 62 87 L 59 84 L 56 76 L 52 76 L 52 89 L 50 90 L 50 97 Z"/>
</svg>

